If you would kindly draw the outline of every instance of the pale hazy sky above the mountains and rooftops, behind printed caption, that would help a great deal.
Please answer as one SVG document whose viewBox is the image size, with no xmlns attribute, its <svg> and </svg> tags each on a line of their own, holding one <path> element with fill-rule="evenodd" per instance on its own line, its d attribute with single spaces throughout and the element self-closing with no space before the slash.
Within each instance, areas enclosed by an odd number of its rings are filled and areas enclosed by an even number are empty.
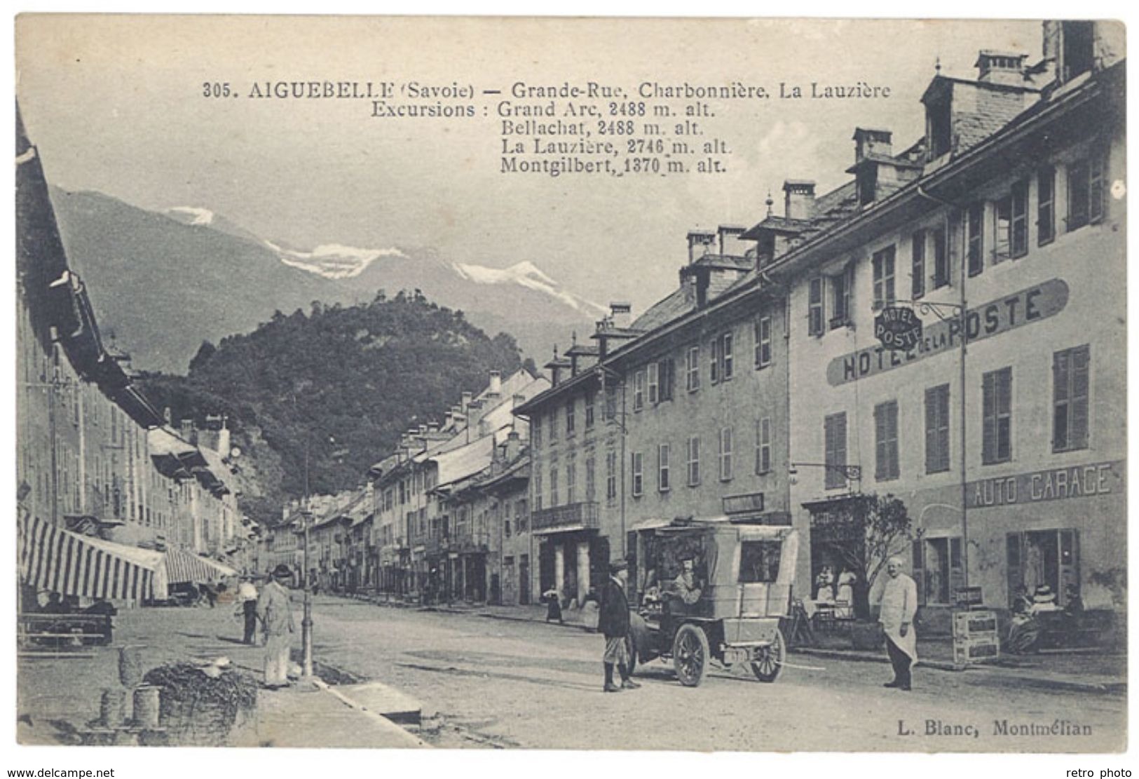
<svg viewBox="0 0 1139 779">
<path fill-rule="evenodd" d="M 16 23 L 16 89 L 48 178 L 66 189 L 208 208 L 297 248 L 532 261 L 593 301 L 631 301 L 636 313 L 675 286 L 689 229 L 754 224 L 769 191 L 781 213 L 785 179 L 814 180 L 819 194 L 838 186 L 855 126 L 892 130 L 895 149 L 909 146 L 924 132 L 919 98 L 935 65 L 975 77 L 980 49 L 1035 62 L 1040 24 L 33 15 Z M 376 118 L 367 100 L 245 97 L 279 80 L 503 95 L 460 100 L 477 108 L 462 121 Z M 495 107 L 511 84 L 590 80 L 630 92 L 642 81 L 775 92 L 780 82 L 866 82 L 891 96 L 707 101 L 715 116 L 703 140 L 731 150 L 721 174 L 501 173 Z M 215 82 L 241 97 L 203 97 Z"/>
</svg>

